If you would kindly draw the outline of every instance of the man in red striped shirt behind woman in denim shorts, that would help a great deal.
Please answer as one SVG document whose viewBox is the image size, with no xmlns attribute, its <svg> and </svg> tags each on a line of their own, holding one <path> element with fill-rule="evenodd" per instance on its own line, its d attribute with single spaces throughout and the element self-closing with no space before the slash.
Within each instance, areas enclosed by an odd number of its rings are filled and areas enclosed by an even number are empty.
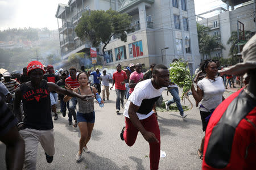
<svg viewBox="0 0 256 170">
<path fill-rule="evenodd" d="M 69 84 L 73 89 L 79 87 L 79 83 L 77 82 L 77 78 L 76 78 L 76 68 L 75 67 L 71 67 L 69 69 L 69 77 L 67 79 L 65 79 L 65 83 Z M 68 108 L 68 124 L 72 125 L 72 115 L 73 118 L 75 120 L 73 127 L 76 128 L 77 127 L 77 120 L 76 120 L 76 104 L 77 104 L 77 99 L 76 97 L 72 97 L 71 100 L 69 100 L 69 108 Z"/>
</svg>

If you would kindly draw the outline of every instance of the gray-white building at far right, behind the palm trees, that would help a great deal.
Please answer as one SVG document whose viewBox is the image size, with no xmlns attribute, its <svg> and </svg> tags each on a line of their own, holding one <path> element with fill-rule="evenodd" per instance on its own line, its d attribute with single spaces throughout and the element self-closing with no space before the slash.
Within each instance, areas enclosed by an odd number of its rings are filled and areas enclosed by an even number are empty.
<svg viewBox="0 0 256 170">
<path fill-rule="evenodd" d="M 216 36 L 217 40 L 224 46 L 223 49 L 216 49 L 208 54 L 201 54 L 201 59 L 209 59 L 210 57 L 223 57 L 228 58 L 229 49 L 231 44 L 227 44 L 233 31 L 237 31 L 237 21 L 244 24 L 245 31 L 250 31 L 251 35 L 255 33 L 254 23 L 254 1 L 240 1 L 240 3 L 233 3 L 233 1 L 224 1 L 227 3 L 227 8 L 218 7 L 213 10 L 204 12 L 203 14 L 197 15 L 197 22 L 205 27 L 209 27 L 209 35 Z M 246 2 L 246 3 L 245 3 Z M 229 8 L 231 6 L 231 10 Z M 234 5 L 240 5 L 234 9 Z M 219 14 L 214 15 L 210 18 L 204 18 L 204 15 L 210 12 L 219 11 Z M 242 28 L 241 28 L 242 29 Z M 242 49 L 241 49 L 242 50 Z"/>
</svg>

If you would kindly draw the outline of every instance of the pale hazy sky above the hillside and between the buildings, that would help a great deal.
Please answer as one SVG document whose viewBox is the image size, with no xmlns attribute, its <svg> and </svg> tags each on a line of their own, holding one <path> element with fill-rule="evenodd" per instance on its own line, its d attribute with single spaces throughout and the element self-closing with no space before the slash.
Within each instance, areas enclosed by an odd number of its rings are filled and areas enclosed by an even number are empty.
<svg viewBox="0 0 256 170">
<path fill-rule="evenodd" d="M 55 14 L 59 3 L 67 4 L 68 0 L 0 0 L 0 30 L 24 27 L 57 29 Z M 226 7 L 221 0 L 195 0 L 196 14 L 220 6 Z"/>
</svg>

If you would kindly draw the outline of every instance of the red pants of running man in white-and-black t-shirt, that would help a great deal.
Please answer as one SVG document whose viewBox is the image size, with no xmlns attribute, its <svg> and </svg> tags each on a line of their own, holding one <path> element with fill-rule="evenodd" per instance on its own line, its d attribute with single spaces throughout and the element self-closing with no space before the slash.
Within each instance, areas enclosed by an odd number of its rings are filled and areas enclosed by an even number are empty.
<svg viewBox="0 0 256 170">
<path fill-rule="evenodd" d="M 158 121 L 156 120 L 155 114 L 153 113 L 150 117 L 140 120 L 143 127 L 152 133 L 155 134 L 156 139 L 158 139 L 159 143 L 149 143 L 150 145 L 150 169 L 155 170 L 158 169 L 159 159 L 160 159 L 160 130 L 158 126 Z M 125 117 L 125 131 L 123 133 L 123 138 L 125 139 L 125 143 L 128 146 L 133 146 L 137 135 L 138 129 L 133 126 L 130 121 L 130 118 Z"/>
</svg>

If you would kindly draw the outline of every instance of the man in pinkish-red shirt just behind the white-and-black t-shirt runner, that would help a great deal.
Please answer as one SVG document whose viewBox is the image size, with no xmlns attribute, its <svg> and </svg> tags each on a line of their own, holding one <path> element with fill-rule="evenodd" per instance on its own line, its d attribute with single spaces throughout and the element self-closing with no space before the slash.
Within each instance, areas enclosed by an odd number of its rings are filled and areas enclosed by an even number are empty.
<svg viewBox="0 0 256 170">
<path fill-rule="evenodd" d="M 141 63 L 137 63 L 135 65 L 135 71 L 133 73 L 131 73 L 130 75 L 130 80 L 129 80 L 129 94 L 131 94 L 134 90 L 134 87 L 136 86 L 136 84 L 138 84 L 139 82 L 143 81 L 143 73 L 141 73 L 142 70 L 142 65 Z"/>
</svg>

